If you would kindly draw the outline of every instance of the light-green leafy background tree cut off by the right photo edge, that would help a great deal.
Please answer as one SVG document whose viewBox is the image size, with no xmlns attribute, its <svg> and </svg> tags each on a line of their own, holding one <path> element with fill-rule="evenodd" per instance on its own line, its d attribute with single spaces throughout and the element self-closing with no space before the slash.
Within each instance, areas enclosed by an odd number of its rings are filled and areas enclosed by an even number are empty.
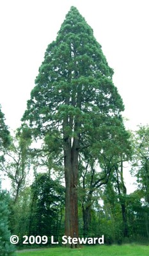
<svg viewBox="0 0 149 256">
<path fill-rule="evenodd" d="M 149 127 L 139 126 L 132 132 L 132 145 L 134 149 L 132 161 L 132 174 L 137 179 L 137 195 L 141 207 L 137 208 L 137 216 L 141 216 L 144 236 L 149 237 Z"/>
</svg>

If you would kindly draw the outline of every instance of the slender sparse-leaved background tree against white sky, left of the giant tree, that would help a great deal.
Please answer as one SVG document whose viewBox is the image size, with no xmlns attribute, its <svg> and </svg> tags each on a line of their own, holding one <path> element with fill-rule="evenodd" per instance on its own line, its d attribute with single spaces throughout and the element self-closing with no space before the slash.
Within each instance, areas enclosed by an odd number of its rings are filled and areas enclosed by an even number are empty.
<svg viewBox="0 0 149 256">
<path fill-rule="evenodd" d="M 24 128 L 22 132 L 18 129 L 15 136 L 11 136 L 10 141 L 9 147 L 4 148 L 4 163 L 1 164 L 1 170 L 10 178 L 13 196 L 17 202 L 19 193 L 26 184 L 26 176 L 30 167 L 31 136 L 29 129 Z"/>
</svg>

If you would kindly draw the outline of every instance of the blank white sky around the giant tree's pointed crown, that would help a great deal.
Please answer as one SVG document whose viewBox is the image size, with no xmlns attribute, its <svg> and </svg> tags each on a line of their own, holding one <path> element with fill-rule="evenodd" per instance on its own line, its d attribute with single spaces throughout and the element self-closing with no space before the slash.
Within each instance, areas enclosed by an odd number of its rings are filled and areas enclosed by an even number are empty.
<svg viewBox="0 0 149 256">
<path fill-rule="evenodd" d="M 0 1 L 0 104 L 10 129 L 20 125 L 47 45 L 75 6 L 102 45 L 125 104 L 127 127 L 148 120 L 148 0 Z"/>
</svg>

